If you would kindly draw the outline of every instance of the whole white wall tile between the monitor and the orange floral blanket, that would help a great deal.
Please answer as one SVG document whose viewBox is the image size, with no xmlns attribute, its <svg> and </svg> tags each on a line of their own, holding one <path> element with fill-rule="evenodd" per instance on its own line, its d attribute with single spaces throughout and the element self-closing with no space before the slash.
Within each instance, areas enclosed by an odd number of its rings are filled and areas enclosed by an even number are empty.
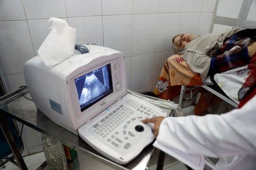
<svg viewBox="0 0 256 170">
<path fill-rule="evenodd" d="M 151 91 L 155 53 L 131 58 L 131 90 Z"/>
</svg>

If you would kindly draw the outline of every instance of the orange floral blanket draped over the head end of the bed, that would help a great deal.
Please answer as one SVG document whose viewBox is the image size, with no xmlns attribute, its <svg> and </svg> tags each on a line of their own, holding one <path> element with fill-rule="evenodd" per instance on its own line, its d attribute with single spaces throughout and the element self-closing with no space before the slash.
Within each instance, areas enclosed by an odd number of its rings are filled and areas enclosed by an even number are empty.
<svg viewBox="0 0 256 170">
<path fill-rule="evenodd" d="M 160 99 L 172 101 L 180 95 L 181 85 L 200 86 L 203 85 L 203 82 L 200 74 L 194 73 L 187 62 L 179 54 L 175 54 L 164 63 L 154 93 Z M 200 92 L 201 97 L 194 110 L 197 115 L 203 114 L 210 105 L 221 100 L 208 91 L 201 90 Z"/>
</svg>

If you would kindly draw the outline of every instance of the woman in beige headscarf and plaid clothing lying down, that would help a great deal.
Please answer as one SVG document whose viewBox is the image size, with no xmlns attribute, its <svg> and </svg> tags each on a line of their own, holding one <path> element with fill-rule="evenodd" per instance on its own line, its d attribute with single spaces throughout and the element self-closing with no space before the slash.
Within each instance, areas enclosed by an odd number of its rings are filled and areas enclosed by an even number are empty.
<svg viewBox="0 0 256 170">
<path fill-rule="evenodd" d="M 256 52 L 256 29 L 232 28 L 203 36 L 179 34 L 172 39 L 172 49 L 187 62 L 202 80 L 247 65 Z"/>
</svg>

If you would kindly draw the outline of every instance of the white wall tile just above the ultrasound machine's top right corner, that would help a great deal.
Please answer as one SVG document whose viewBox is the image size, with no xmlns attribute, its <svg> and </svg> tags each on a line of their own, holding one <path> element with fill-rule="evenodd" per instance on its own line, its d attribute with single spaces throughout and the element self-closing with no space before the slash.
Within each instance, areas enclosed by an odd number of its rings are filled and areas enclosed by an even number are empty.
<svg viewBox="0 0 256 170">
<path fill-rule="evenodd" d="M 131 56 L 132 16 L 103 16 L 104 46 Z"/>
</svg>

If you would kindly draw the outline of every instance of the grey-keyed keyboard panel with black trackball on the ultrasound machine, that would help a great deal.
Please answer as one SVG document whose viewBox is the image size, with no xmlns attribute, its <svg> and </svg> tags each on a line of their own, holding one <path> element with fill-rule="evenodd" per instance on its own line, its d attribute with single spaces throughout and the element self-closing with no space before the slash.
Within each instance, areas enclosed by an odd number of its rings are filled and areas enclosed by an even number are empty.
<svg viewBox="0 0 256 170">
<path fill-rule="evenodd" d="M 148 131 L 151 133 L 151 127 L 141 120 L 157 116 L 156 111 L 128 99 L 89 130 L 110 147 L 125 152 L 136 145 L 137 137 L 142 138 Z"/>
</svg>

